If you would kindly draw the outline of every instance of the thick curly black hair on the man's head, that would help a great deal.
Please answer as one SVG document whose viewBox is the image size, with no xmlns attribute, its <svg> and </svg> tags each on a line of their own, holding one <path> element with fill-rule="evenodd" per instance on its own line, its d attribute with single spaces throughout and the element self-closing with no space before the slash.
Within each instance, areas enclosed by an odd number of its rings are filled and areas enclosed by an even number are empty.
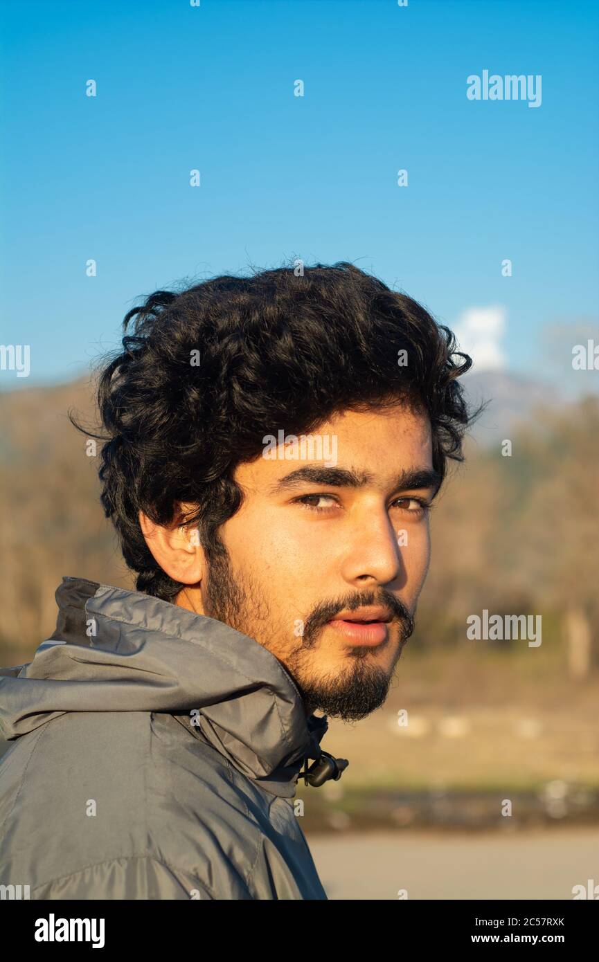
<svg viewBox="0 0 599 962">
<path fill-rule="evenodd" d="M 133 332 L 127 333 L 130 322 Z M 182 585 L 149 551 L 139 512 L 199 528 L 210 559 L 239 509 L 238 464 L 266 435 L 309 434 L 345 410 L 404 400 L 430 418 L 433 467 L 463 460 L 476 417 L 456 378 L 472 365 L 449 328 L 352 264 L 221 276 L 156 291 L 124 317 L 122 352 L 100 372 L 101 501 L 138 591 L 172 601 Z M 407 363 L 399 363 L 406 351 Z M 103 361 L 102 364 L 106 362 Z"/>
</svg>

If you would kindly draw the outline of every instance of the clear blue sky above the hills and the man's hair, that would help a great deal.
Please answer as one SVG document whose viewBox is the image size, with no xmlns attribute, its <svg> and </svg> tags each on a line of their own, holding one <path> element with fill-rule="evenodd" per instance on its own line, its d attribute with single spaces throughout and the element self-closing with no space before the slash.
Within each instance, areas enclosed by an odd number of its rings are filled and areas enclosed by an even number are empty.
<svg viewBox="0 0 599 962">
<path fill-rule="evenodd" d="M 373 271 L 482 367 L 597 325 L 593 0 L 14 0 L 1 45 L 0 342 L 31 373 L 0 388 L 85 373 L 143 293 L 293 257 Z M 484 69 L 540 107 L 468 100 Z"/>
</svg>

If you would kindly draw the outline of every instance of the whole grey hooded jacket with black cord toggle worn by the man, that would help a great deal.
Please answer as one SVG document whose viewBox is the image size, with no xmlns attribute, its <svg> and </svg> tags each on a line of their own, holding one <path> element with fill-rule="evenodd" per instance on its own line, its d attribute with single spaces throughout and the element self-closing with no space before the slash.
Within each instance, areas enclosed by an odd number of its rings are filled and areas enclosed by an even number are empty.
<svg viewBox="0 0 599 962">
<path fill-rule="evenodd" d="M 306 718 L 273 654 L 85 578 L 63 578 L 56 599 L 52 638 L 0 670 L 13 743 L 0 885 L 31 899 L 326 899 L 292 801 L 305 759 L 325 759 L 326 716 Z"/>
</svg>

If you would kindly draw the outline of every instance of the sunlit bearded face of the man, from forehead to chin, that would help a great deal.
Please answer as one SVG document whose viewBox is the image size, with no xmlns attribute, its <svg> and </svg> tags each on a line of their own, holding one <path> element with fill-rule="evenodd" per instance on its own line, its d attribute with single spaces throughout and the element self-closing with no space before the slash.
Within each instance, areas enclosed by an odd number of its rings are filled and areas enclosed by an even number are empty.
<svg viewBox="0 0 599 962">
<path fill-rule="evenodd" d="M 220 529 L 202 607 L 266 646 L 308 713 L 356 720 L 385 700 L 413 628 L 439 479 L 429 419 L 402 405 L 345 412 L 312 435 L 336 437 L 336 459 L 324 446 L 236 469 L 245 499 Z"/>
</svg>

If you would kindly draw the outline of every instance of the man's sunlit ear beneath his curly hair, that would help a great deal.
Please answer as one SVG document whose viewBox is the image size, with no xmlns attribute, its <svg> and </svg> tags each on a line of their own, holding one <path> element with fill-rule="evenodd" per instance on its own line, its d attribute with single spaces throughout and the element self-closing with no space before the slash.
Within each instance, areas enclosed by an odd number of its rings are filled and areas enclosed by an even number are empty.
<svg viewBox="0 0 599 962">
<path fill-rule="evenodd" d="M 175 503 L 174 520 L 171 524 L 156 524 L 143 511 L 139 513 L 140 527 L 154 561 L 174 581 L 184 585 L 197 585 L 206 571 L 204 550 L 199 544 L 197 528 L 181 527 L 178 519 L 192 506 Z"/>
</svg>

